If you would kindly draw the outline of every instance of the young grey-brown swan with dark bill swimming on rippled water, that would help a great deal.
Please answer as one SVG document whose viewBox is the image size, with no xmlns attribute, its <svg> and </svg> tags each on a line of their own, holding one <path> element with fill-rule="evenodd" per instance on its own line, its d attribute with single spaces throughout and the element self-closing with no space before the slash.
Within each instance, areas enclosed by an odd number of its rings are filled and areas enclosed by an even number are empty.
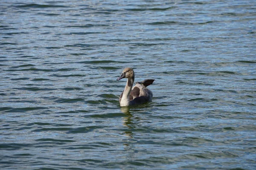
<svg viewBox="0 0 256 170">
<path fill-rule="evenodd" d="M 117 81 L 127 78 L 127 83 L 125 85 L 125 90 L 122 92 L 119 103 L 120 106 L 130 106 L 138 105 L 152 100 L 152 92 L 147 88 L 154 82 L 154 79 L 145 79 L 143 82 L 136 82 L 135 86 L 132 87 L 134 83 L 134 70 L 132 68 L 125 68 Z"/>
</svg>

